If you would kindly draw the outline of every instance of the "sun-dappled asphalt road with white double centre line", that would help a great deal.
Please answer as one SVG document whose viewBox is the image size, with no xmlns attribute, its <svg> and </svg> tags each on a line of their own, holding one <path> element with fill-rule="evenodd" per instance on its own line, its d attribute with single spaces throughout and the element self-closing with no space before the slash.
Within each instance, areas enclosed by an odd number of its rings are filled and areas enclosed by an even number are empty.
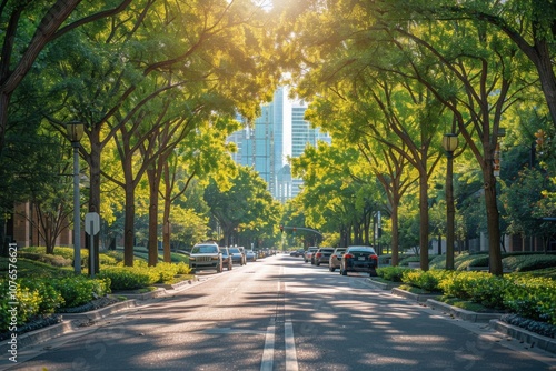
<svg viewBox="0 0 556 371">
<path fill-rule="evenodd" d="M 270 257 L 20 351 L 8 370 L 556 370 L 552 353 Z M 2 357 L 2 365 L 6 365 Z"/>
</svg>

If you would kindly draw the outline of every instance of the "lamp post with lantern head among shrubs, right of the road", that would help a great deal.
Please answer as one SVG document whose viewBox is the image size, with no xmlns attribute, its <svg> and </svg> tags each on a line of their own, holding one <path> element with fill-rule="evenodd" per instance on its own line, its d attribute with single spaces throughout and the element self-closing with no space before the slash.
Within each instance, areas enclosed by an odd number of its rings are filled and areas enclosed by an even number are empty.
<svg viewBox="0 0 556 371">
<path fill-rule="evenodd" d="M 448 270 L 454 270 L 454 219 L 456 214 L 456 208 L 454 207 L 454 151 L 457 144 L 457 134 L 444 134 L 443 147 L 448 159 L 446 166 L 446 269 Z"/>
</svg>

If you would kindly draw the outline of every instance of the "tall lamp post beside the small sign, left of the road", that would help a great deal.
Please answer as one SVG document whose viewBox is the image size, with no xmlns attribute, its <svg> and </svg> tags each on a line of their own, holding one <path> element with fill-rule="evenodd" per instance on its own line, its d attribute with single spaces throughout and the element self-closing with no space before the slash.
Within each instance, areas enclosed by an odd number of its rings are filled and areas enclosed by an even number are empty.
<svg viewBox="0 0 556 371">
<path fill-rule="evenodd" d="M 69 122 L 66 127 L 68 138 L 73 148 L 73 272 L 81 274 L 81 229 L 79 209 L 79 146 L 83 137 L 81 122 Z"/>
</svg>

